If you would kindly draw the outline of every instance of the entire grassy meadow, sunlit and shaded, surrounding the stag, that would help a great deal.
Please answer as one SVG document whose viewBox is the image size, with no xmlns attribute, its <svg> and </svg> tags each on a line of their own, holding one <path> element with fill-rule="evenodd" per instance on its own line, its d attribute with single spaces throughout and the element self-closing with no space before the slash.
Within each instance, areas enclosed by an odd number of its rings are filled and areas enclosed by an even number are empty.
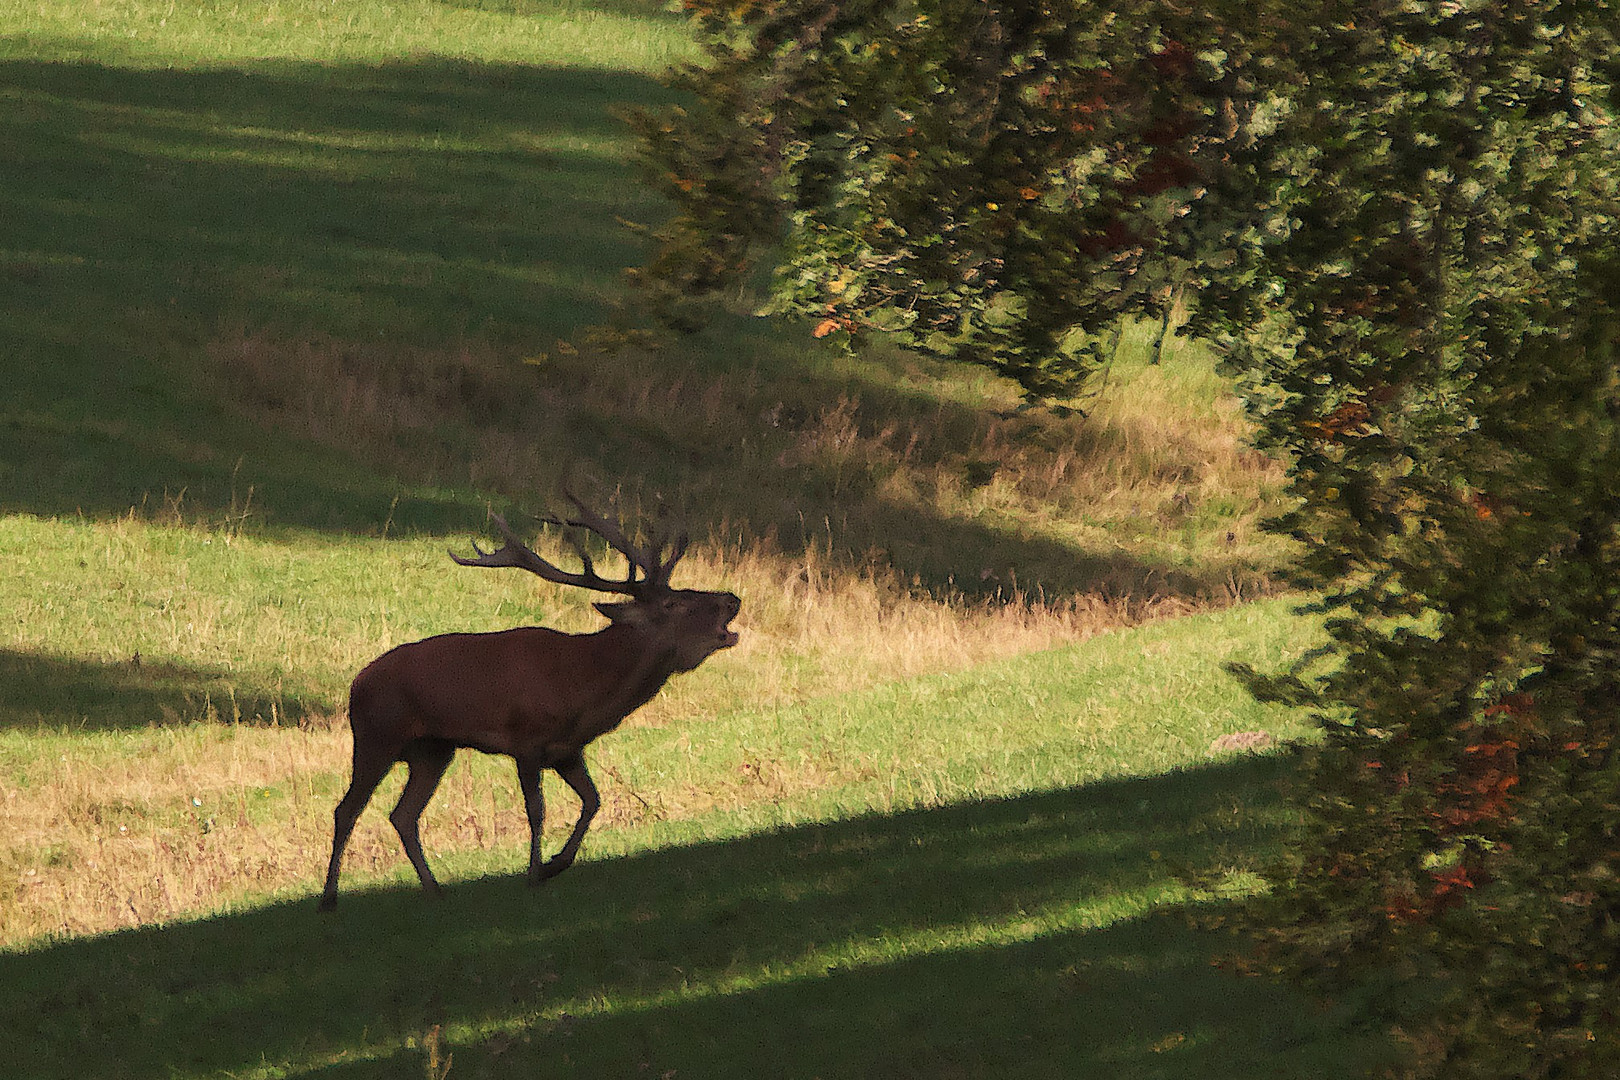
<svg viewBox="0 0 1620 1080">
<path fill-rule="evenodd" d="M 16 1077 L 1351 1077 L 1382 1036 L 1194 929 L 1307 735 L 1221 670 L 1275 596 L 1212 358 L 1084 415 L 737 313 L 650 337 L 619 115 L 656 0 L 0 0 L 0 1015 Z M 590 751 L 522 887 L 467 753 L 318 918 L 348 680 L 599 625 L 462 570 L 565 473 L 692 528 L 739 648 Z M 551 541 L 544 541 L 551 542 Z M 565 549 L 552 547 L 559 554 Z M 554 847 L 577 803 L 548 784 Z"/>
</svg>

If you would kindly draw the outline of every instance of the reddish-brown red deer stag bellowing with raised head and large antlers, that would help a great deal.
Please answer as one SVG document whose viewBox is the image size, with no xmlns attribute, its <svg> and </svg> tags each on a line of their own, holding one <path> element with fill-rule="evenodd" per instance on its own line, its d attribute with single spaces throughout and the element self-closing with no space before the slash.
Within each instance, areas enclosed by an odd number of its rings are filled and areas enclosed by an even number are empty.
<svg viewBox="0 0 1620 1080">
<path fill-rule="evenodd" d="M 595 513 L 564 492 L 580 512 L 577 520 L 546 518 L 551 525 L 585 528 L 630 562 L 622 581 L 598 576 L 583 544 L 573 541 L 583 563 L 569 573 L 517 538 L 499 515 L 505 538 L 499 551 L 473 544 L 475 559 L 454 551 L 463 567 L 518 567 L 557 585 L 575 585 L 630 599 L 596 604 L 609 625 L 596 633 L 562 633 L 518 627 L 499 633 L 447 633 L 402 644 L 371 661 L 348 691 L 348 724 L 355 763 L 348 792 L 332 813 L 332 861 L 326 871 L 321 910 L 337 907 L 337 873 L 355 819 L 377 784 L 403 761 L 410 769 L 400 801 L 389 814 L 400 834 L 421 887 L 436 894 L 439 882 L 421 853 L 418 821 L 439 777 L 462 746 L 507 755 L 517 761 L 518 789 L 528 813 L 528 884 L 538 886 L 573 863 L 580 840 L 599 805 L 585 769 L 583 750 L 619 727 L 676 672 L 688 672 L 711 653 L 737 644 L 731 620 L 742 602 L 731 593 L 669 588 L 669 573 L 687 549 L 682 534 L 638 547 L 617 520 Z M 640 576 L 638 576 L 640 575 Z M 541 861 L 544 821 L 539 774 L 554 769 L 580 797 L 580 819 L 551 861 Z"/>
</svg>

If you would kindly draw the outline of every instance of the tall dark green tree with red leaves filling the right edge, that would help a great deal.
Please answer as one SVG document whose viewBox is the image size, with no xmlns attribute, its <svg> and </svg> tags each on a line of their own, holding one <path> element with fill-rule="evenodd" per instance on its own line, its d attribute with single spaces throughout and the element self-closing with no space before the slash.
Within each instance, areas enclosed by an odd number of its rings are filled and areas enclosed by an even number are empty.
<svg viewBox="0 0 1620 1080">
<path fill-rule="evenodd" d="M 1354 5 L 1299 55 L 1252 248 L 1315 680 L 1291 963 L 1439 978 L 1424 1067 L 1609 1075 L 1620 240 L 1607 5 Z M 1233 300 L 1243 295 L 1236 290 Z"/>
</svg>

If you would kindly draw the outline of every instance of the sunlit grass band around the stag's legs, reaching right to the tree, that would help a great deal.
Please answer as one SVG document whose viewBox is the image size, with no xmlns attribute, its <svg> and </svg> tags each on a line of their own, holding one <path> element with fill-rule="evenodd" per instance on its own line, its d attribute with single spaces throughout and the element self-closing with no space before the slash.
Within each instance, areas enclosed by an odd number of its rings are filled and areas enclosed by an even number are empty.
<svg viewBox="0 0 1620 1080">
<path fill-rule="evenodd" d="M 1296 717 L 1249 699 L 1221 665 L 1281 664 L 1306 648 L 1304 630 L 1278 602 L 1244 606 L 966 670 L 849 680 L 850 690 L 821 683 L 787 698 L 773 695 L 779 669 L 758 651 L 750 659 L 745 641 L 737 656 L 677 680 L 650 722 L 593 746 L 608 805 L 590 852 L 1157 774 L 1204 761 L 1228 732 L 1294 737 Z M 186 682 L 194 667 L 143 680 L 144 665 L 62 674 L 28 654 L 11 664 L 37 706 L 23 698 L 0 730 L 0 868 L 28 886 L 0 895 L 10 941 L 16 928 L 39 934 L 52 920 L 107 928 L 131 910 L 172 918 L 266 889 L 308 892 L 309 852 L 324 847 L 347 780 L 345 732 L 266 727 L 267 712 L 232 724 L 237 709 L 262 701 L 280 701 L 288 717 L 295 699 L 237 691 L 225 674 Z M 81 716 L 39 716 L 52 708 Z M 390 805 L 400 779 L 377 806 Z M 201 829 L 207 818 L 215 821 Z M 567 819 L 556 811 L 552 832 Z M 452 874 L 517 865 L 523 824 L 510 763 L 463 755 L 429 808 L 428 834 Z M 408 878 L 381 811 L 361 837 L 353 886 L 368 868 Z"/>
</svg>

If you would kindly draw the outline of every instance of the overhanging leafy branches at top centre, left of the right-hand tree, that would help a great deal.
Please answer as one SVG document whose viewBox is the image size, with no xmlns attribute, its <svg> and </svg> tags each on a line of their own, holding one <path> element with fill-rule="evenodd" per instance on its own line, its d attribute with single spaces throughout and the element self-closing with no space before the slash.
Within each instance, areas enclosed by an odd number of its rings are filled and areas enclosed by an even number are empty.
<svg viewBox="0 0 1620 1080">
<path fill-rule="evenodd" d="M 1213 259 L 1189 209 L 1256 92 L 1217 8 L 688 6 L 710 62 L 638 120 L 679 210 L 645 280 L 677 322 L 770 244 L 776 309 L 816 337 L 886 332 L 1061 398 Z"/>
</svg>

